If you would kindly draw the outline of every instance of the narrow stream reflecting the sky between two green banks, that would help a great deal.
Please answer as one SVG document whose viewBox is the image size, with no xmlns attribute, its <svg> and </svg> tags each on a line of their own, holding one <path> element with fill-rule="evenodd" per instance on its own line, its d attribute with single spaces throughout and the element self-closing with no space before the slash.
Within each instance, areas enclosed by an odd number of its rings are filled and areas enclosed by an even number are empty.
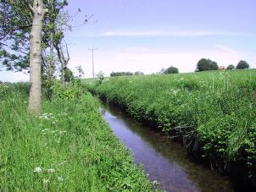
<svg viewBox="0 0 256 192">
<path fill-rule="evenodd" d="M 165 191 L 233 191 L 228 178 L 190 160 L 181 144 L 137 123 L 124 112 L 103 103 L 103 118 L 129 148 L 134 161 L 142 163 L 148 178 Z"/>
</svg>

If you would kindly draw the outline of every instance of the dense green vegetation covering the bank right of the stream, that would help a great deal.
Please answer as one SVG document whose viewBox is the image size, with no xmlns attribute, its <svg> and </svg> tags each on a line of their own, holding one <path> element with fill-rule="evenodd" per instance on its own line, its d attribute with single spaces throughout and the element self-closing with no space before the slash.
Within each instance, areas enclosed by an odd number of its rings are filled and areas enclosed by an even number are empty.
<svg viewBox="0 0 256 192">
<path fill-rule="evenodd" d="M 118 77 L 87 86 L 133 118 L 180 136 L 222 173 L 242 166 L 255 179 L 256 70 Z"/>
</svg>

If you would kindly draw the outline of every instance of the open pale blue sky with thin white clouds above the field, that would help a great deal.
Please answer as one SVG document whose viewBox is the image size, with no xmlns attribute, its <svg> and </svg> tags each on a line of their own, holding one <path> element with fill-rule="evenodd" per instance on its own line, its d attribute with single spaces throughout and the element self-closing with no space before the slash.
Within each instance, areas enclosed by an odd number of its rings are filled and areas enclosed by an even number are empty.
<svg viewBox="0 0 256 192">
<path fill-rule="evenodd" d="M 86 77 L 92 76 L 89 47 L 98 49 L 96 73 L 150 74 L 170 65 L 191 72 L 200 58 L 224 66 L 244 59 L 256 67 L 255 0 L 70 0 L 70 14 L 78 8 L 73 25 L 93 17 L 66 37 L 70 68 L 81 65 Z"/>
</svg>

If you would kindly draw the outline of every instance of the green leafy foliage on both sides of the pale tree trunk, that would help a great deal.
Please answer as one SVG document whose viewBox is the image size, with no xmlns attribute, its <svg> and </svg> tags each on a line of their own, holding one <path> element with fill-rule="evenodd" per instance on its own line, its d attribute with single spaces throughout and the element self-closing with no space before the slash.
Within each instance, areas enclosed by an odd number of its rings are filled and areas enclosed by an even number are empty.
<svg viewBox="0 0 256 192">
<path fill-rule="evenodd" d="M 4 0 L 0 3 L 0 62 L 8 70 L 29 69 L 30 32 L 33 15 L 26 0 Z M 50 32 L 58 41 L 63 31 L 57 30 L 60 11 L 67 5 L 66 0 L 44 0 L 47 10 L 42 28 L 42 49 L 50 47 Z M 43 64 L 43 63 L 42 63 Z"/>
</svg>

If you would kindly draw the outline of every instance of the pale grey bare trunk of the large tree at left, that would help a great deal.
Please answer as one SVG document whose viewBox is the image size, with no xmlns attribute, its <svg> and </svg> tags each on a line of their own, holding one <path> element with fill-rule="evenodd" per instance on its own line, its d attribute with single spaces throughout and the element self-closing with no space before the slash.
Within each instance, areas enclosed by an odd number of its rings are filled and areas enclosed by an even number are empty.
<svg viewBox="0 0 256 192">
<path fill-rule="evenodd" d="M 46 14 L 42 0 L 34 0 L 33 7 L 29 4 L 33 14 L 31 29 L 31 52 L 30 52 L 30 101 L 29 110 L 34 114 L 41 112 L 41 36 L 42 22 Z"/>
</svg>

